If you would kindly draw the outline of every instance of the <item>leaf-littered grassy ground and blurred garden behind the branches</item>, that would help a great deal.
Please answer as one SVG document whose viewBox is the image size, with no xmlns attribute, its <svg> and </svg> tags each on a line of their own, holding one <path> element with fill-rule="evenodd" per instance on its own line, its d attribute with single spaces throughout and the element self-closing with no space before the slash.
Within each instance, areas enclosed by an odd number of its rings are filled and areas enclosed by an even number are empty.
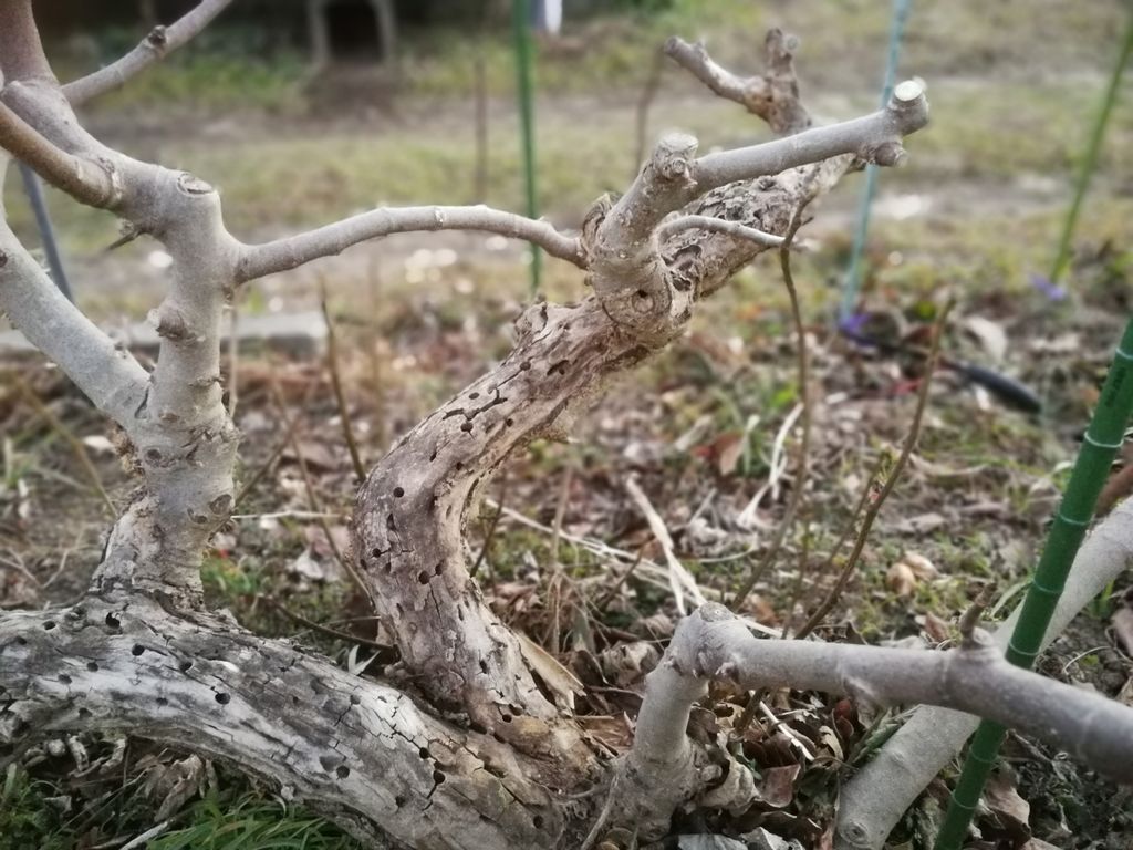
<svg viewBox="0 0 1133 850">
<path fill-rule="evenodd" d="M 112 61 L 191 6 L 36 3 L 62 80 Z M 862 348 L 835 325 L 862 176 L 811 206 L 815 220 L 800 233 L 794 273 L 817 399 L 809 479 L 795 477 L 796 340 L 778 260 L 764 255 L 700 305 L 682 339 L 602 400 L 572 442 L 537 442 L 492 484 L 469 543 L 504 617 L 562 657 L 627 636 L 664 637 L 674 612 L 649 568 L 663 553 L 627 496 L 636 476 L 709 595 L 758 562 L 792 487 L 804 486 L 803 518 L 746 604 L 767 626 L 798 624 L 833 584 L 826 555 L 878 459 L 904 439 L 923 376 L 913 354 L 946 294 L 959 304 L 945 354 L 1010 379 L 1029 401 L 1021 409 L 1017 397 L 942 371 L 917 456 L 824 636 L 938 644 L 980 589 L 1017 592 L 1133 311 L 1133 86 L 1117 88 L 1068 267 L 1050 280 L 1130 15 L 1119 0 L 913 0 L 897 79 L 927 83 L 931 122 L 906 139 L 904 168 L 879 173 L 853 303 L 889 348 Z M 647 146 L 665 129 L 693 133 L 701 151 L 770 137 L 741 107 L 658 61 L 668 36 L 702 40 L 747 76 L 761 68 L 766 31 L 782 27 L 801 42 L 803 102 L 838 120 L 877 108 L 891 16 L 885 0 L 564 0 L 557 32 L 531 34 L 539 213 L 577 228 L 596 198 L 629 185 L 642 139 Z M 237 0 L 80 118 L 126 153 L 214 184 L 229 229 L 245 241 L 375 205 L 527 204 L 505 0 Z M 152 356 L 139 325 L 163 295 L 168 255 L 146 238 L 110 249 L 121 236 L 111 216 L 52 190 L 46 201 L 79 306 Z M 5 202 L 25 244 L 40 249 L 15 175 Z M 350 634 L 366 630 L 351 618 L 366 611 L 339 563 L 356 484 L 343 423 L 366 468 L 504 356 L 511 321 L 531 298 L 530 264 L 525 245 L 502 237 L 410 233 L 239 294 L 231 326 L 241 342 L 225 357 L 225 382 L 245 434 L 244 490 L 206 563 L 214 602 L 257 631 L 299 634 L 348 657 Z M 586 288 L 577 269 L 544 257 L 542 292 L 569 300 Z M 135 483 L 85 400 L 14 337 L 0 340 L 0 604 L 66 602 Z M 644 566 L 631 568 L 634 558 Z M 1130 647 L 1113 619 L 1127 579 L 1056 644 L 1045 673 L 1133 700 Z M 338 623 L 339 637 L 313 631 L 315 621 Z M 611 697 L 614 705 L 580 711 L 632 714 L 639 679 L 622 673 L 627 705 Z M 795 732 L 820 741 L 824 756 L 785 799 L 752 816 L 810 842 L 828 818 L 840 766 L 868 751 L 869 721 L 843 717 L 823 737 L 813 719 L 829 705 L 776 707 L 794 709 Z M 758 767 L 791 758 L 789 748 L 749 743 Z M 131 776 L 171 758 L 131 754 Z M 1013 801 L 1017 783 L 1031 809 L 1029 822 L 1006 804 L 982 816 L 985 834 L 1006 842 L 998 845 L 1022 847 L 1031 835 L 1064 848 L 1127 845 L 1133 809 L 1111 785 L 1033 745 L 1014 741 L 1006 754 L 1014 773 L 997 799 Z M 80 792 L 59 759 L 46 765 L 33 774 L 46 785 L 19 792 L 29 800 L 25 821 L 0 807 L 0 834 L 19 827 L 39 836 L 27 847 L 76 847 L 80 838 L 93 847 L 153 823 L 160 800 L 136 788 L 121 814 L 90 802 L 123 792 L 113 785 L 121 768 Z M 208 806 L 197 800 L 178 815 L 181 839 L 236 810 L 278 821 L 274 804 L 241 780 L 222 775 L 208 788 Z M 931 834 L 926 824 L 944 793 L 943 784 L 930 790 L 900 840 Z M 60 794 L 76 797 L 66 817 L 42 802 Z M 308 845 L 352 847 L 333 830 L 325 835 Z M 193 840 L 168 847 L 221 845 Z"/>
</svg>

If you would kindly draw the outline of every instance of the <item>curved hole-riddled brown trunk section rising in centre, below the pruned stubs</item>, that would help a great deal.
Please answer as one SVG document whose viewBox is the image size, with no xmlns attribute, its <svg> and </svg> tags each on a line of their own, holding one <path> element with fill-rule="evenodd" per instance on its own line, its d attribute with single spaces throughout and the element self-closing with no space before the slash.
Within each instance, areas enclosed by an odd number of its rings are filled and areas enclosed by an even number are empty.
<svg viewBox="0 0 1133 850">
<path fill-rule="evenodd" d="M 370 473 L 355 511 L 357 554 L 406 665 L 437 704 L 467 711 L 529 751 L 582 766 L 588 756 L 569 721 L 469 578 L 461 532 L 468 504 L 509 452 L 566 433 L 606 379 L 651 349 L 623 333 L 597 298 L 531 307 L 517 332 L 496 369 L 410 431 Z"/>
</svg>

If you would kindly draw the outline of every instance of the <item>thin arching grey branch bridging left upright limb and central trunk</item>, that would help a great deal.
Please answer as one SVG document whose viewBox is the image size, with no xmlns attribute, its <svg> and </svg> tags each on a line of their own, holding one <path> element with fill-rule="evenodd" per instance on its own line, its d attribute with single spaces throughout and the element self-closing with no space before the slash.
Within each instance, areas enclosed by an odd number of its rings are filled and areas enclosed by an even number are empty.
<svg viewBox="0 0 1133 850">
<path fill-rule="evenodd" d="M 535 243 L 553 257 L 583 267 L 578 239 L 564 236 L 546 221 L 525 219 L 488 206 L 382 207 L 317 230 L 245 248 L 239 282 L 288 271 L 320 257 L 341 254 L 368 239 L 414 230 L 484 230 Z"/>
</svg>

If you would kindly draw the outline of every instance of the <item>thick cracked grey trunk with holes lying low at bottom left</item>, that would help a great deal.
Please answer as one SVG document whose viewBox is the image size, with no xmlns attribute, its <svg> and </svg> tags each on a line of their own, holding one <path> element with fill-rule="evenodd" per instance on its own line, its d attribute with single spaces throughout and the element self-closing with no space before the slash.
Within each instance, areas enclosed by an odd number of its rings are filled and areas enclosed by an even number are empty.
<svg viewBox="0 0 1133 850">
<path fill-rule="evenodd" d="M 519 850 L 554 847 L 565 830 L 530 766 L 491 736 L 287 641 L 137 595 L 0 619 L 0 765 L 76 726 L 235 762 L 367 847 L 389 833 L 411 847 Z"/>
</svg>

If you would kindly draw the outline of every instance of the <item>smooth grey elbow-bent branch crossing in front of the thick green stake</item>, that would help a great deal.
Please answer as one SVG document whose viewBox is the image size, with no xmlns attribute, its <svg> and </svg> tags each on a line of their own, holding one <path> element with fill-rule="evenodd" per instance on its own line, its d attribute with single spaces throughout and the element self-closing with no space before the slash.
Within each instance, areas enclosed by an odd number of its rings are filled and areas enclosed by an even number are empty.
<svg viewBox="0 0 1133 850">
<path fill-rule="evenodd" d="M 685 726 L 708 682 L 721 678 L 749 690 L 789 687 L 970 712 L 1133 782 L 1133 709 L 1010 664 L 981 630 L 951 652 L 760 640 L 727 609 L 709 603 L 681 622 L 646 679 L 633 747 L 617 780 L 620 823 L 656 817 L 658 800 L 675 805 L 697 783 Z"/>
</svg>

